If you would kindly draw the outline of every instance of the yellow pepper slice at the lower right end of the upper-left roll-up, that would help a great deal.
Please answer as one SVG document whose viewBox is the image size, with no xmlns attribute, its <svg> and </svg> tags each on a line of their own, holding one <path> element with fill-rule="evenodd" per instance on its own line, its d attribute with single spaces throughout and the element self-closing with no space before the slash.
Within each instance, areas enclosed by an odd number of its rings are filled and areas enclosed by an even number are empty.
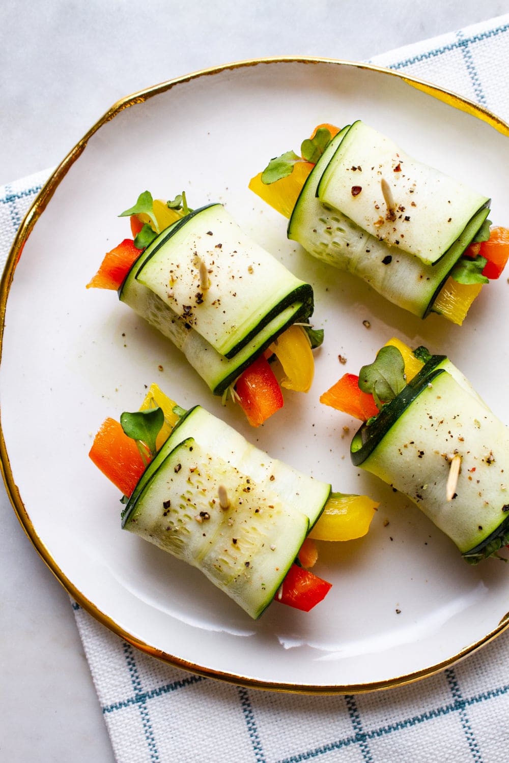
<svg viewBox="0 0 509 763">
<path fill-rule="evenodd" d="M 285 389 L 308 392 L 314 377 L 314 357 L 308 334 L 293 325 L 283 331 L 269 346 L 282 365 L 285 378 L 279 382 Z"/>
</svg>

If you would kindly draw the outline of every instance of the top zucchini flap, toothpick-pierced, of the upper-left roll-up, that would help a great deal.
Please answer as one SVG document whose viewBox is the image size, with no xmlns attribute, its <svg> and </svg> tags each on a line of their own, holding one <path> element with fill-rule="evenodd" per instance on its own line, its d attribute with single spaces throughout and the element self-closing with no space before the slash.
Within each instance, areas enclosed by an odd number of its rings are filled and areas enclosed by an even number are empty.
<svg viewBox="0 0 509 763">
<path fill-rule="evenodd" d="M 221 204 L 184 218 L 143 260 L 150 288 L 214 349 L 233 357 L 289 304 L 312 307 L 312 289 L 247 237 Z"/>
</svg>

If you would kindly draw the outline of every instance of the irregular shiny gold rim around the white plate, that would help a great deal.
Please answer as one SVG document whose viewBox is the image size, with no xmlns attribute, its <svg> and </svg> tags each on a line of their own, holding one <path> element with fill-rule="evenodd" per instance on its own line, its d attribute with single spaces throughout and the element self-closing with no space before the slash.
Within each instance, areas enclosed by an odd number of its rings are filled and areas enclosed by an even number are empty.
<svg viewBox="0 0 509 763">
<path fill-rule="evenodd" d="M 257 66 L 260 63 L 303 63 L 308 65 L 325 63 L 338 67 L 344 66 L 348 68 L 354 67 L 356 69 L 366 69 L 372 72 L 379 72 L 388 76 L 394 76 L 400 79 L 402 82 L 407 83 L 411 87 L 414 87 L 433 98 L 437 98 L 438 100 L 443 101 L 447 105 L 452 106 L 459 111 L 464 111 L 467 114 L 471 114 L 475 118 L 485 121 L 495 130 L 509 137 L 509 124 L 499 118 L 496 114 L 488 111 L 488 109 L 479 106 L 474 101 L 469 101 L 468 98 L 464 98 L 454 92 L 440 88 L 437 85 L 431 84 L 430 82 L 401 74 L 400 72 L 392 69 L 384 69 L 381 66 L 374 66 L 367 63 L 356 63 L 353 61 L 345 61 L 340 59 L 315 58 L 311 56 L 276 56 L 271 58 L 243 60 L 235 63 L 226 63 L 210 69 L 200 69 L 197 72 L 192 72 L 191 74 L 177 77 L 176 79 L 170 79 L 166 82 L 161 82 L 159 85 L 153 85 L 153 87 L 140 90 L 139 92 L 135 92 L 132 95 L 127 95 L 125 98 L 121 98 L 120 101 L 114 103 L 114 105 L 112 105 L 111 108 L 109 108 L 108 111 L 106 111 L 105 114 L 103 114 L 103 116 L 98 119 L 98 121 L 93 125 L 93 127 L 90 128 L 90 130 L 82 137 L 82 139 L 76 143 L 76 146 L 74 146 L 72 150 L 69 151 L 59 166 L 56 167 L 52 175 L 50 175 L 50 178 L 43 185 L 43 188 L 41 188 L 37 198 L 31 205 L 31 208 L 27 211 L 27 214 L 25 215 L 24 220 L 19 227 L 18 233 L 14 238 L 14 243 L 11 246 L 11 251 L 5 265 L 2 281 L 0 282 L 0 358 L 2 357 L 7 298 L 11 288 L 16 263 L 18 262 L 19 256 L 21 255 L 24 244 L 30 236 L 31 230 L 37 223 L 40 215 L 43 214 L 43 211 L 47 208 L 47 204 L 50 202 L 50 199 L 56 191 L 56 188 L 58 185 L 60 185 L 60 182 L 62 182 L 72 164 L 74 164 L 76 160 L 79 159 L 79 156 L 81 156 L 82 152 L 85 150 L 85 147 L 87 146 L 90 138 L 100 129 L 100 127 L 114 119 L 118 114 L 121 113 L 121 111 L 124 111 L 124 109 L 130 108 L 130 106 L 144 103 L 149 98 L 153 98 L 155 95 L 160 95 L 171 90 L 176 85 L 183 85 L 186 82 L 192 82 L 192 80 L 198 79 L 200 77 L 221 74 L 221 72 L 227 71 L 228 69 L 242 69 L 243 67 L 247 66 Z M 498 626 L 495 629 L 487 633 L 482 639 L 479 639 L 478 641 L 466 646 L 457 654 L 452 655 L 446 660 L 443 660 L 443 662 L 439 662 L 436 665 L 430 665 L 427 668 L 423 668 L 420 671 L 414 671 L 410 674 L 402 674 L 385 681 L 366 682 L 365 684 L 314 685 L 287 684 L 282 682 L 272 683 L 270 681 L 261 681 L 256 678 L 246 677 L 241 674 L 230 674 L 224 671 L 214 671 L 213 669 L 204 668 L 200 665 L 195 665 L 195 663 L 182 660 L 181 658 L 178 658 L 174 655 L 166 654 L 166 652 L 163 652 L 161 649 L 157 649 L 153 645 L 147 644 L 143 641 L 140 641 L 140 639 L 134 638 L 134 636 L 122 629 L 118 623 L 115 623 L 111 617 L 108 617 L 107 614 L 101 612 L 101 610 L 99 610 L 92 601 L 87 599 L 82 594 L 82 592 L 76 588 L 72 581 L 70 581 L 69 578 L 63 574 L 63 571 L 60 569 L 59 565 L 56 564 L 56 561 L 53 559 L 53 557 L 50 555 L 50 552 L 44 545 L 43 540 L 40 539 L 40 537 L 37 535 L 34 526 L 31 523 L 31 518 L 26 508 L 24 507 L 24 503 L 21 495 L 19 494 L 18 488 L 14 483 L 11 465 L 8 458 L 8 452 L 5 447 L 5 439 L 3 435 L 1 419 L 0 468 L 2 470 L 2 478 L 5 483 L 5 488 L 7 489 L 8 497 L 11 500 L 11 504 L 14 507 L 14 511 L 17 514 L 18 520 L 20 521 L 25 533 L 31 540 L 32 545 L 37 550 L 40 557 L 43 559 L 43 562 L 46 563 L 48 568 L 50 568 L 50 571 L 53 572 L 53 575 L 56 576 L 63 587 L 66 588 L 66 591 L 68 591 L 68 593 L 76 600 L 79 606 L 91 614 L 92 617 L 95 617 L 95 620 L 98 620 L 99 623 L 106 626 L 117 636 L 120 636 L 121 639 L 124 639 L 124 641 L 130 645 L 140 649 L 141 652 L 144 652 L 145 654 L 152 657 L 156 657 L 159 660 L 169 663 L 169 665 L 173 665 L 176 668 L 182 668 L 183 670 L 204 676 L 205 678 L 216 678 L 232 684 L 237 684 L 244 687 L 256 687 L 259 689 L 265 689 L 267 691 L 284 691 L 297 694 L 361 694 L 363 692 L 369 691 L 380 691 L 382 689 L 411 684 L 415 681 L 419 681 L 422 678 L 427 678 L 428 676 L 437 674 L 440 671 L 443 671 L 445 668 L 449 667 L 449 665 L 453 665 L 453 663 L 458 662 L 460 659 L 465 658 L 466 656 L 472 654 L 472 652 L 480 649 L 483 645 L 488 644 L 488 642 L 491 642 L 496 638 L 496 636 L 499 636 L 509 627 L 508 612 L 504 615 L 504 617 L 502 617 L 500 623 L 498 623 Z"/>
</svg>

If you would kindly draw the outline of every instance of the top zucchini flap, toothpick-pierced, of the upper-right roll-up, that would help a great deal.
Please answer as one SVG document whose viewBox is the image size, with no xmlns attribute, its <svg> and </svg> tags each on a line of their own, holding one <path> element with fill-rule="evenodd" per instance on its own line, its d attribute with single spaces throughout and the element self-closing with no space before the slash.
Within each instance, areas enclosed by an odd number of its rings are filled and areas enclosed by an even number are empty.
<svg viewBox="0 0 509 763">
<path fill-rule="evenodd" d="M 385 181 L 385 189 L 382 182 Z M 338 209 L 396 251 L 433 265 L 489 199 L 412 159 L 390 138 L 356 121 L 317 188 Z"/>
</svg>

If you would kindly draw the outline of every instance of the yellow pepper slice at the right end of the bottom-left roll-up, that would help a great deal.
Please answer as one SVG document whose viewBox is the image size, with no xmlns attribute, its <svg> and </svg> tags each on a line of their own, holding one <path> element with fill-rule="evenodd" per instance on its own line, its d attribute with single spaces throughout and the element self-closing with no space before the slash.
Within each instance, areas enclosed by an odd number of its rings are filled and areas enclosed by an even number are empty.
<svg viewBox="0 0 509 763">
<path fill-rule="evenodd" d="M 378 507 L 367 495 L 332 493 L 308 537 L 315 540 L 362 538 Z"/>
</svg>

